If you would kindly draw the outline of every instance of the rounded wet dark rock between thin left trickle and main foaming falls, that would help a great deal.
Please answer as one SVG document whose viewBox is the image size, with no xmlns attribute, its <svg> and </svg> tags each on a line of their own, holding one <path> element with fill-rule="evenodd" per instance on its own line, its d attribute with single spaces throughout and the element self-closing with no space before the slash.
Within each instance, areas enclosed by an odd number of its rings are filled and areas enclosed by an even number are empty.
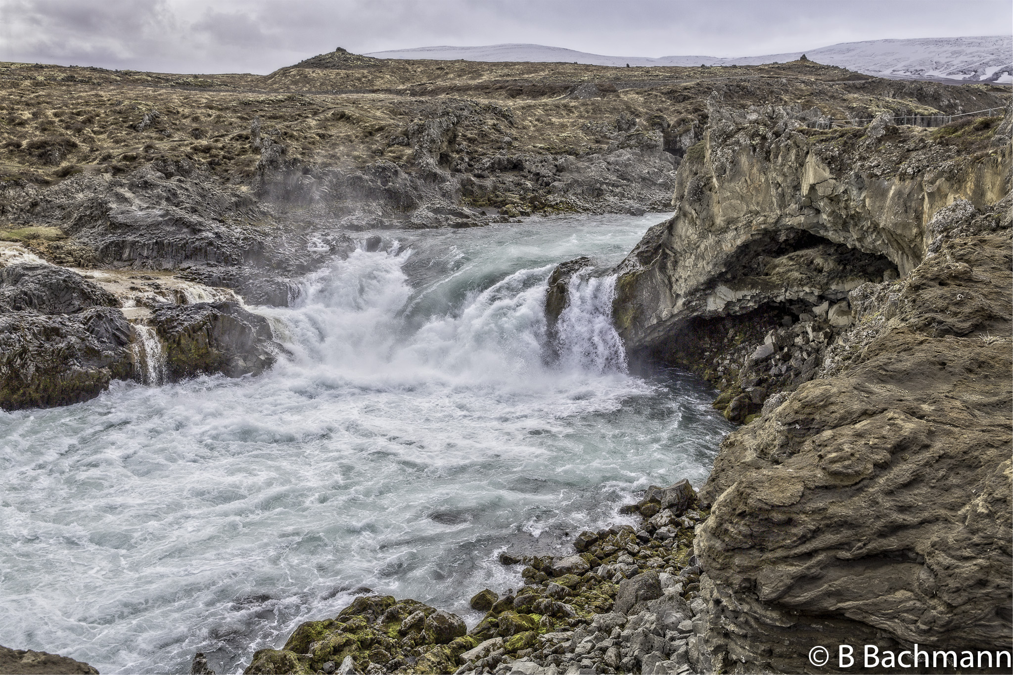
<svg viewBox="0 0 1013 675">
<path fill-rule="evenodd" d="M 279 349 L 267 320 L 236 303 L 160 305 L 152 325 L 165 344 L 172 379 L 215 372 L 259 374 L 275 362 Z"/>
</svg>

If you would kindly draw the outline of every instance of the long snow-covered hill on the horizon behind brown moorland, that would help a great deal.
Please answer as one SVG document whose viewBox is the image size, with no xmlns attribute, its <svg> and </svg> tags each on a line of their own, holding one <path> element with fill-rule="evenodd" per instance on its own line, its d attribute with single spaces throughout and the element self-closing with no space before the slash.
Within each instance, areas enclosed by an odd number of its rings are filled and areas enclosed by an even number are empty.
<svg viewBox="0 0 1013 675">
<path fill-rule="evenodd" d="M 868 75 L 912 79 L 949 79 L 968 82 L 1013 82 L 1013 36 L 920 37 L 842 43 L 805 52 L 817 63 L 842 66 Z M 568 62 L 597 66 L 750 66 L 794 61 L 801 52 L 758 57 L 704 56 L 609 57 L 543 45 L 486 47 L 421 47 L 374 52 L 379 59 L 438 59 L 450 61 Z"/>
</svg>

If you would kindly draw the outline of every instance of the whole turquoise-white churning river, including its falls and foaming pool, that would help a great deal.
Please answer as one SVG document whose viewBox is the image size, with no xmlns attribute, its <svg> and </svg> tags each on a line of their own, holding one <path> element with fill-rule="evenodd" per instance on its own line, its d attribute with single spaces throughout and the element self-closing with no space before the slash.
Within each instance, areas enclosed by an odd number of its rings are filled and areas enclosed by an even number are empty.
<svg viewBox="0 0 1013 675">
<path fill-rule="evenodd" d="M 627 371 L 614 278 L 575 276 L 547 344 L 553 266 L 614 264 L 660 218 L 387 233 L 252 308 L 289 350 L 260 377 L 0 413 L 3 644 L 221 673 L 362 587 L 473 619 L 472 593 L 521 583 L 498 551 L 699 485 L 727 425 L 699 382 Z"/>
</svg>

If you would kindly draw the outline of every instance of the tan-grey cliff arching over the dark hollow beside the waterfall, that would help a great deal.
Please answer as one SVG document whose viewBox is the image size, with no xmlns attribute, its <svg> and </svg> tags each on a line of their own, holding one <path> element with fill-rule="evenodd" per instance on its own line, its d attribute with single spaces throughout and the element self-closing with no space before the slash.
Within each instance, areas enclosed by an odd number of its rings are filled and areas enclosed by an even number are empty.
<svg viewBox="0 0 1013 675">
<path fill-rule="evenodd" d="M 634 350 L 696 317 L 838 302 L 876 276 L 907 274 L 937 210 L 956 198 L 981 207 L 1009 190 L 1010 153 L 989 151 L 988 129 L 968 156 L 885 117 L 819 131 L 788 108 L 712 98 L 709 119 L 677 173 L 677 215 L 618 269 L 617 323 Z"/>
</svg>

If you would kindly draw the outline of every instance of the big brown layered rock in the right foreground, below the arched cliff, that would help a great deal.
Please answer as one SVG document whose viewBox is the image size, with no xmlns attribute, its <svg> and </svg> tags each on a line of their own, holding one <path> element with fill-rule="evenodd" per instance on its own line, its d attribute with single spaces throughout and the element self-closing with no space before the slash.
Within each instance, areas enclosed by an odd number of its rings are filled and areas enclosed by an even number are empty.
<svg viewBox="0 0 1013 675">
<path fill-rule="evenodd" d="M 933 255 L 852 291 L 822 376 L 722 444 L 696 551 L 733 671 L 802 672 L 817 644 L 1010 648 L 1010 205 L 941 212 Z"/>
</svg>

